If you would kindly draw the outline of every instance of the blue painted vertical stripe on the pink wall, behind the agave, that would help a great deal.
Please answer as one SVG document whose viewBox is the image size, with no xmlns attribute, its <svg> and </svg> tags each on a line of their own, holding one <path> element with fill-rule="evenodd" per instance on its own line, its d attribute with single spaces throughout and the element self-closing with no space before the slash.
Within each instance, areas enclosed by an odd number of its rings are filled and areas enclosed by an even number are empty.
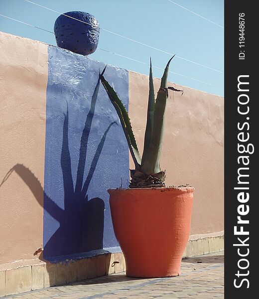
<svg viewBox="0 0 259 299">
<path fill-rule="evenodd" d="M 117 247 L 107 189 L 129 183 L 129 150 L 100 82 L 105 64 L 48 48 L 44 258 Z M 128 71 L 105 76 L 129 106 Z"/>
</svg>

